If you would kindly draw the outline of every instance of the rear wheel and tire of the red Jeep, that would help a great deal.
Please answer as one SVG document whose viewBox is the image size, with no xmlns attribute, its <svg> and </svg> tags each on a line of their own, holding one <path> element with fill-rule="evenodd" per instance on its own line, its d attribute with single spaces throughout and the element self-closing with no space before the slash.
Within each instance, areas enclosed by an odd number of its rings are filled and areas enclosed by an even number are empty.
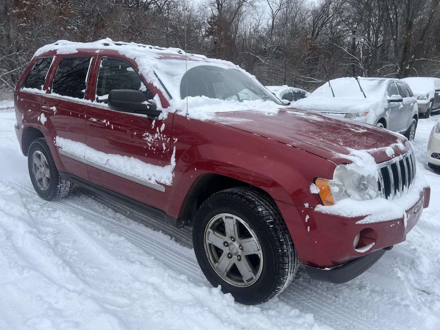
<svg viewBox="0 0 440 330">
<path fill-rule="evenodd" d="M 29 177 L 37 194 L 47 200 L 64 198 L 73 190 L 73 183 L 62 179 L 44 138 L 34 140 L 28 152 Z"/>
</svg>

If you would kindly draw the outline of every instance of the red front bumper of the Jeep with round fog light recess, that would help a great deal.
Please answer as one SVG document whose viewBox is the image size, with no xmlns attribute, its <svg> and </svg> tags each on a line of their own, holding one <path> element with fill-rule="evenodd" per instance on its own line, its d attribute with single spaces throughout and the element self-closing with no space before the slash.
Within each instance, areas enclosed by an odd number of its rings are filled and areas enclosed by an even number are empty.
<svg viewBox="0 0 440 330">
<path fill-rule="evenodd" d="M 321 280 L 328 277 L 327 281 L 340 282 L 341 279 L 335 279 L 335 275 L 331 274 L 349 272 L 350 274 L 337 276 L 349 281 L 367 270 L 381 257 L 379 254 L 383 254 L 374 252 L 382 252 L 382 249 L 403 242 L 407 233 L 418 222 L 422 209 L 428 207 L 429 197 L 430 188 L 426 187 L 418 202 L 407 210 L 406 221 L 402 216 L 399 219 L 370 224 L 357 224 L 365 216 L 344 217 L 320 213 L 314 208 L 293 205 L 288 207 L 281 202 L 277 202 L 277 205 L 286 220 L 298 256 L 308 272 L 311 271 L 312 276 Z M 358 233 L 363 233 L 359 242 L 374 245 L 367 250 L 355 249 L 353 241 Z M 364 257 L 372 253 L 373 256 Z M 362 259 L 355 262 L 359 257 Z M 328 275 L 314 275 L 325 274 L 322 272 L 329 270 L 331 271 Z"/>
</svg>

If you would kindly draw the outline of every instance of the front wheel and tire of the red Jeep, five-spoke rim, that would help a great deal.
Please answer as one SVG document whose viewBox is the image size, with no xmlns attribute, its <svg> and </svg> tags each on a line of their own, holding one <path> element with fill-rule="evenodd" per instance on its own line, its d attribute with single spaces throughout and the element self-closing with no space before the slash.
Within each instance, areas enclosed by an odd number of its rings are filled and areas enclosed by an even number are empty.
<svg viewBox="0 0 440 330">
<path fill-rule="evenodd" d="M 193 244 L 209 282 L 242 304 L 261 304 L 282 292 L 299 263 L 275 202 L 245 187 L 220 191 L 202 203 Z"/>
</svg>

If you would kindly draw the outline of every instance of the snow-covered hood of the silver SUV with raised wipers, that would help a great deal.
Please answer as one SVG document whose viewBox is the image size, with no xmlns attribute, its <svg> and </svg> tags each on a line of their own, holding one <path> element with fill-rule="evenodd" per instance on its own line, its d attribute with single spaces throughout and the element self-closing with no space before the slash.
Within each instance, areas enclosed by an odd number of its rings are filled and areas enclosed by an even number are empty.
<svg viewBox="0 0 440 330">
<path fill-rule="evenodd" d="M 352 112 L 366 112 L 375 109 L 378 106 L 381 106 L 381 102 L 378 99 L 309 96 L 305 99 L 298 100 L 295 103 L 295 106 L 305 110 L 347 114 Z"/>
</svg>

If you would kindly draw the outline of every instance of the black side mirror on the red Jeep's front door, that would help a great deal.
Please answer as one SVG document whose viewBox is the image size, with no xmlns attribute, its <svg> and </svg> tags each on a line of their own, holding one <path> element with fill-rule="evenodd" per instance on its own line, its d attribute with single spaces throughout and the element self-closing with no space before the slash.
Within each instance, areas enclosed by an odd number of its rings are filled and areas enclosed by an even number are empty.
<svg viewBox="0 0 440 330">
<path fill-rule="evenodd" d="M 111 110 L 130 114 L 145 114 L 154 118 L 161 114 L 161 110 L 157 110 L 156 104 L 148 101 L 143 92 L 132 89 L 112 89 L 107 105 Z"/>
</svg>

